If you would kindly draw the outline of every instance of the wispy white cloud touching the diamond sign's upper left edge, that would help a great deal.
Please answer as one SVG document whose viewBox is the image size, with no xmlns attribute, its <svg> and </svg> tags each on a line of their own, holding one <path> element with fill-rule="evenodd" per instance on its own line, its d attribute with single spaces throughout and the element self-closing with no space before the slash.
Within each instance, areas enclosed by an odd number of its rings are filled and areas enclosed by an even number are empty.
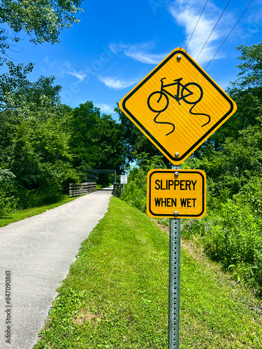
<svg viewBox="0 0 262 349">
<path fill-rule="evenodd" d="M 144 64 L 159 64 L 159 62 L 161 62 L 166 57 L 167 53 L 150 53 L 153 47 L 154 43 L 152 41 L 149 43 L 140 43 L 134 45 L 124 43 L 111 43 L 109 45 L 110 50 L 115 54 L 122 52 L 126 57 L 130 57 L 131 59 Z"/>
</svg>

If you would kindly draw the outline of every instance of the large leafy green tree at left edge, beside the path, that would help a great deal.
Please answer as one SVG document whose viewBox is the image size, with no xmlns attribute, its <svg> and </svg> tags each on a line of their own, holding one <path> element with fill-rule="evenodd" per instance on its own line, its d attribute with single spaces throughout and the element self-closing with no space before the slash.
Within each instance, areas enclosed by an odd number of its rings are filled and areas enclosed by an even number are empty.
<svg viewBox="0 0 262 349">
<path fill-rule="evenodd" d="M 32 66 L 8 63 L 0 76 L 0 167 L 15 175 L 20 207 L 57 200 L 69 181 L 77 180 L 68 145 L 71 108 L 59 103 L 53 77 L 30 82 Z M 9 188 L 3 188 L 5 202 Z"/>
</svg>

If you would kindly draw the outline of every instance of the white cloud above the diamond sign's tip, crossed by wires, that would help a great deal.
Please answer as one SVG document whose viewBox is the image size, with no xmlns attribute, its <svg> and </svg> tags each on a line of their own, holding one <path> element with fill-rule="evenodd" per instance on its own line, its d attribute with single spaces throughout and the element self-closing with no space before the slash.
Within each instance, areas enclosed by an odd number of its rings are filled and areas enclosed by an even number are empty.
<svg viewBox="0 0 262 349">
<path fill-rule="evenodd" d="M 185 45 L 187 45 L 196 22 L 201 15 L 203 6 L 205 6 L 205 1 L 176 0 L 168 8 L 177 24 L 185 29 Z M 194 59 L 196 59 L 199 52 L 201 52 L 201 49 L 203 45 L 205 45 L 205 41 L 208 39 L 208 36 L 222 13 L 222 10 L 222 8 L 217 8 L 212 1 L 210 1 L 206 6 L 196 30 L 194 31 L 194 35 L 189 41 L 187 47 L 187 51 Z M 219 24 L 210 36 L 208 43 L 206 43 L 203 51 L 197 59 L 199 64 L 208 63 L 212 59 L 217 48 L 222 43 L 222 40 L 226 38 L 229 28 L 232 26 L 232 22 L 234 22 L 233 15 L 226 10 L 224 15 L 221 17 Z M 219 57 L 221 56 L 217 56 L 216 59 Z"/>
</svg>

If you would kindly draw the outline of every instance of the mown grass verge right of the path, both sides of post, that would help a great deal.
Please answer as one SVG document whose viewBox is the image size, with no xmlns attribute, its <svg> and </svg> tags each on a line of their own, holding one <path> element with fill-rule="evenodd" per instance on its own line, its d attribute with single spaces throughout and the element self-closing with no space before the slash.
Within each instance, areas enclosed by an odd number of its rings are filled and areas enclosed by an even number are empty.
<svg viewBox="0 0 262 349">
<path fill-rule="evenodd" d="M 261 302 L 189 243 L 181 279 L 181 349 L 261 349 Z M 168 235 L 111 198 L 34 349 L 166 349 L 167 314 Z"/>
</svg>

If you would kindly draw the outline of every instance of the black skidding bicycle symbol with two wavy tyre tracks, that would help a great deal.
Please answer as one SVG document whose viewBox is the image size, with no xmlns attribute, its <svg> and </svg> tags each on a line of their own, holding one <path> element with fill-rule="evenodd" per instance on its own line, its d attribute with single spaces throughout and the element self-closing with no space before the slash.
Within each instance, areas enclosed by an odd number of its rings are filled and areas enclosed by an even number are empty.
<svg viewBox="0 0 262 349">
<path fill-rule="evenodd" d="M 168 96 L 175 99 L 175 101 L 178 102 L 179 105 L 181 105 L 180 101 L 182 100 L 184 103 L 187 103 L 189 105 L 192 105 L 189 112 L 192 115 L 205 115 L 208 117 L 208 122 L 203 124 L 201 127 L 208 125 L 210 123 L 210 115 L 203 114 L 203 113 L 196 113 L 192 112 L 195 105 L 201 101 L 203 98 L 203 89 L 199 84 L 196 84 L 196 82 L 188 82 L 187 84 L 182 84 L 181 80 L 183 79 L 180 77 L 179 79 L 173 80 L 172 84 L 163 84 L 163 80 L 165 80 L 166 77 L 162 77 L 161 81 L 161 89 L 160 91 L 154 91 L 150 96 L 147 98 L 147 105 L 152 110 L 152 112 L 157 112 L 157 116 L 154 117 L 154 122 L 156 124 L 168 124 L 173 127 L 173 130 L 167 133 L 166 135 L 170 135 L 170 133 L 173 133 L 175 131 L 175 124 L 172 124 L 171 122 L 166 121 L 157 121 L 157 117 L 159 117 L 159 114 L 161 112 L 164 112 L 168 105 L 169 105 L 169 98 Z M 175 86 L 177 85 L 177 91 L 176 94 L 170 94 L 170 92 L 166 89 L 166 87 Z M 192 91 L 193 89 L 193 91 Z"/>
</svg>

